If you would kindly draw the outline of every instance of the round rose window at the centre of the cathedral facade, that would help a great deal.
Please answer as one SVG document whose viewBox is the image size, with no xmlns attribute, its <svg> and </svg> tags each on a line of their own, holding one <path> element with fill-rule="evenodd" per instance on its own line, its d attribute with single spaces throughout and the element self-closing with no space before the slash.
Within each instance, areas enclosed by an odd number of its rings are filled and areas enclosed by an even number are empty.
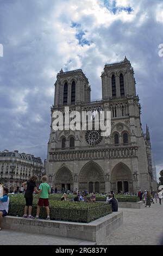
<svg viewBox="0 0 163 256">
<path fill-rule="evenodd" d="M 102 139 L 101 131 L 86 131 L 85 133 L 85 140 L 89 145 L 98 145 Z"/>
</svg>

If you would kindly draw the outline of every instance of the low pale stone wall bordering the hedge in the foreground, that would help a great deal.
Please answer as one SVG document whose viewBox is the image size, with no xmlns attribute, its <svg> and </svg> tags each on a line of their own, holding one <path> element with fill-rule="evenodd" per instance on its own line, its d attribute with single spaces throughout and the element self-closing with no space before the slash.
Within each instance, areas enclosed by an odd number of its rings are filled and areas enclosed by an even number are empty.
<svg viewBox="0 0 163 256">
<path fill-rule="evenodd" d="M 99 244 L 112 231 L 120 227 L 122 222 L 123 212 L 112 212 L 112 214 L 90 223 L 28 220 L 21 217 L 7 216 L 3 220 L 3 228 L 35 234 L 82 239 Z"/>
</svg>

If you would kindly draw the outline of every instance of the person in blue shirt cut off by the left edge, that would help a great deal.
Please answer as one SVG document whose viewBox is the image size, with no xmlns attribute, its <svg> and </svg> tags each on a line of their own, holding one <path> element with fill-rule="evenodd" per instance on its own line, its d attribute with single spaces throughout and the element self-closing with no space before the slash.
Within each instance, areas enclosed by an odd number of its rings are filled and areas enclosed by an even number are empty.
<svg viewBox="0 0 163 256">
<path fill-rule="evenodd" d="M 9 210 L 9 190 L 7 187 L 3 187 L 3 197 L 0 197 L 0 230 L 2 229 L 3 217 L 7 216 Z"/>
</svg>

